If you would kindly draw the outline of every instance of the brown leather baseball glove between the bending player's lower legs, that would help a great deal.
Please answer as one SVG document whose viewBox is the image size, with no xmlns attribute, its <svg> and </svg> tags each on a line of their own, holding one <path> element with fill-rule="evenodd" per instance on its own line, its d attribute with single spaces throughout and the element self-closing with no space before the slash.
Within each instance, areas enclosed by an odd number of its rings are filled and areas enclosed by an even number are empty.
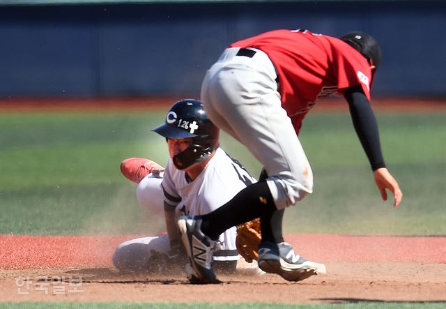
<svg viewBox="0 0 446 309">
<path fill-rule="evenodd" d="M 237 225 L 236 246 L 238 253 L 245 258 L 246 262 L 252 263 L 254 259 L 257 260 L 261 240 L 259 218 Z"/>
</svg>

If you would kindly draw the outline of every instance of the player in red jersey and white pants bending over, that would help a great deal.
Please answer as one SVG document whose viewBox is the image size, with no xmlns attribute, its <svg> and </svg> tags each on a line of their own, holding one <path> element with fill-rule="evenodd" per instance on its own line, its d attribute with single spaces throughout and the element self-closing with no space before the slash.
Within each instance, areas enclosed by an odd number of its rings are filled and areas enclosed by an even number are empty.
<svg viewBox="0 0 446 309">
<path fill-rule="evenodd" d="M 316 100 L 337 93 L 350 107 L 353 126 L 384 200 L 402 199 L 380 149 L 370 91 L 381 52 L 367 33 L 334 38 L 308 30 L 276 30 L 233 43 L 208 70 L 201 100 L 216 126 L 245 144 L 263 164 L 263 179 L 204 216 L 182 216 L 178 227 L 190 257 L 194 280 L 219 282 L 212 261 L 213 243 L 224 230 L 261 218 L 259 267 L 289 280 L 314 271 L 303 259 L 284 259 L 279 246 L 282 216 L 313 191 L 313 174 L 298 139 L 302 120 Z M 196 248 L 203 250 L 197 257 Z M 205 257 L 204 259 L 202 257 Z"/>
</svg>

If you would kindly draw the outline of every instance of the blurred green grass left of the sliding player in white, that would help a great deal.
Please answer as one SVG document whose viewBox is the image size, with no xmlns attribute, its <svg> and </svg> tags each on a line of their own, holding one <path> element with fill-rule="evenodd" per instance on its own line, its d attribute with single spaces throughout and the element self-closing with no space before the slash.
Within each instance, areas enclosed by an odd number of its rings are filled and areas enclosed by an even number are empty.
<svg viewBox="0 0 446 309">
<path fill-rule="evenodd" d="M 159 232 L 147 224 L 134 184 L 119 172 L 130 156 L 164 164 L 155 114 L 3 114 L 0 229 L 4 234 Z M 151 138 L 153 137 L 153 138 Z"/>
</svg>

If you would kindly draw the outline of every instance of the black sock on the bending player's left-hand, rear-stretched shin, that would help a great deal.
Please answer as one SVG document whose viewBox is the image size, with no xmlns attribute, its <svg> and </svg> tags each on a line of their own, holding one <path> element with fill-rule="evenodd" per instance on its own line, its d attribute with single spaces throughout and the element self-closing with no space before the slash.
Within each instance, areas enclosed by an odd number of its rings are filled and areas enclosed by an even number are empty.
<svg viewBox="0 0 446 309">
<path fill-rule="evenodd" d="M 217 239 L 229 227 L 267 216 L 275 210 L 276 206 L 266 182 L 253 183 L 219 209 L 202 216 L 201 232 Z"/>
</svg>

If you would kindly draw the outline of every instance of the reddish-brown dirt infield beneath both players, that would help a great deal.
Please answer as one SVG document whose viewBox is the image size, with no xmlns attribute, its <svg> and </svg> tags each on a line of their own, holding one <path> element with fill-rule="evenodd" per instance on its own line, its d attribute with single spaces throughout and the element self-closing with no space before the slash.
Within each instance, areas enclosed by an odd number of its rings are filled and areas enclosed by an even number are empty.
<svg viewBox="0 0 446 309">
<path fill-rule="evenodd" d="M 111 256 L 130 238 L 0 236 L 0 301 L 446 301 L 443 236 L 287 235 L 302 256 L 325 263 L 328 273 L 287 282 L 247 271 L 220 275 L 220 285 L 190 285 L 183 274 L 119 273 Z"/>
</svg>

